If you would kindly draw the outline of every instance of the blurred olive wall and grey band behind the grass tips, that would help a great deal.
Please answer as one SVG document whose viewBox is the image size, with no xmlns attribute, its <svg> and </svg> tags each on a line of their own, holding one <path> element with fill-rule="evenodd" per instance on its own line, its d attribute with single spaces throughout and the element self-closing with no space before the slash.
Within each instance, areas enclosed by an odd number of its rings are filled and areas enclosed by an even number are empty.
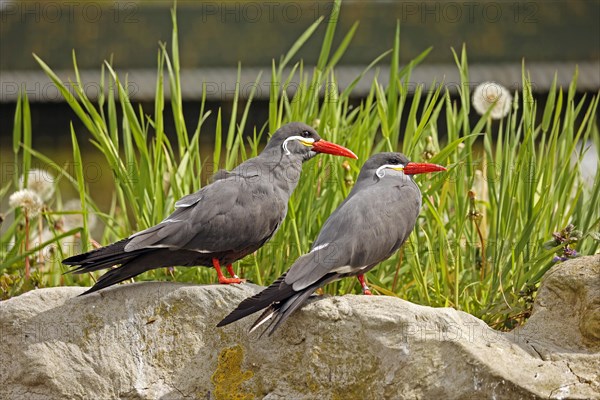
<svg viewBox="0 0 600 400">
<path fill-rule="evenodd" d="M 100 67 L 105 60 L 127 76 L 131 98 L 150 114 L 156 85 L 159 43 L 170 47 L 171 1 L 10 1 L 0 0 L 0 156 L 11 154 L 12 116 L 17 96 L 25 91 L 31 102 L 33 147 L 61 162 L 71 157 L 72 122 L 84 154 L 89 149 L 85 128 L 32 57 L 37 54 L 67 83 L 74 80 L 72 56 L 77 57 L 85 92 L 98 93 Z M 198 119 L 202 85 L 207 107 L 229 120 L 238 63 L 241 98 L 248 95 L 257 75 L 257 88 L 247 130 L 264 126 L 268 116 L 270 68 L 319 17 L 327 18 L 330 1 L 179 1 L 179 43 L 186 121 Z M 460 82 L 451 48 L 467 44 L 472 87 L 496 81 L 514 92 L 521 86 L 524 60 L 536 99 L 543 109 L 555 72 L 566 87 L 579 69 L 578 96 L 600 88 L 600 1 L 345 1 L 334 48 L 355 21 L 352 43 L 336 73 L 343 90 L 370 62 L 392 47 L 396 23 L 401 25 L 401 61 L 408 62 L 433 47 L 411 77 L 411 88 L 444 82 L 456 93 Z M 326 25 L 297 55 L 305 65 L 315 63 Z M 367 94 L 372 76 L 386 84 L 387 59 L 353 91 L 357 103 Z M 167 97 L 169 96 L 167 88 Z M 167 107 L 169 102 L 166 102 Z M 240 110 L 243 107 L 238 108 Z M 165 110 L 166 131 L 172 131 Z M 213 112 L 206 126 L 214 126 Z M 443 123 L 443 121 L 442 121 Z M 190 130 L 193 130 L 190 126 Z M 202 135 L 210 152 L 214 135 Z M 93 159 L 87 159 L 94 165 Z M 99 161 L 101 162 L 101 161 Z M 3 163 L 3 165 L 7 165 Z M 98 167 L 100 174 L 101 168 Z M 1 180 L 10 179 L 2 168 Z M 110 180 L 107 174 L 91 183 Z M 96 181 L 94 181 L 96 179 Z M 99 193 L 103 196 L 103 193 Z M 106 193 L 108 201 L 109 193 Z M 99 199 L 103 203 L 102 198 Z"/>
</svg>

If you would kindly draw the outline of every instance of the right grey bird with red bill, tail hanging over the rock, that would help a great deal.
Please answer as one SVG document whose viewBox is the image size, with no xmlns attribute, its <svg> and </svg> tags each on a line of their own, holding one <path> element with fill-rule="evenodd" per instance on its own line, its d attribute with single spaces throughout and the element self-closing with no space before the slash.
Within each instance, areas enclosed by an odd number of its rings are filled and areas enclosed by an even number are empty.
<svg viewBox="0 0 600 400">
<path fill-rule="evenodd" d="M 400 153 L 369 158 L 348 197 L 325 221 L 310 252 L 271 286 L 242 301 L 217 326 L 266 309 L 250 332 L 270 320 L 262 333 L 268 331 L 270 336 L 316 289 L 347 276 L 356 276 L 363 293 L 370 295 L 364 274 L 392 256 L 417 221 L 421 192 L 411 175 L 445 170 L 410 162 Z"/>
</svg>

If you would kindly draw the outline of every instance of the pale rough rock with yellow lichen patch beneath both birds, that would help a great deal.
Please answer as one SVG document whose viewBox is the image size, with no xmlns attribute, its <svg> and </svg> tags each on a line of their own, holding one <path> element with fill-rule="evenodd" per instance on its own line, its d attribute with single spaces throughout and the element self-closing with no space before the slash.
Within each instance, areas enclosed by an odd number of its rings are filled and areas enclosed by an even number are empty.
<svg viewBox="0 0 600 400">
<path fill-rule="evenodd" d="M 343 296 L 259 339 L 253 318 L 215 328 L 249 284 L 36 290 L 0 303 L 0 398 L 600 398 L 599 268 L 555 266 L 507 334 L 449 308 Z"/>
</svg>

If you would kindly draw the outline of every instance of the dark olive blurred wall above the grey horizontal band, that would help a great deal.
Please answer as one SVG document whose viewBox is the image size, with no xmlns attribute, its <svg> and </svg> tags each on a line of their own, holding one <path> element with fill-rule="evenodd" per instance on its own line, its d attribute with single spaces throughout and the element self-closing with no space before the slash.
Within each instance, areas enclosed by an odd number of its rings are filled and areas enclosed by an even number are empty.
<svg viewBox="0 0 600 400">
<path fill-rule="evenodd" d="M 171 40 L 170 1 L 7 1 L 0 10 L 0 71 L 37 69 L 35 52 L 52 68 L 154 68 L 157 44 Z M 270 66 L 329 1 L 179 1 L 183 68 Z M 450 47 L 468 44 L 471 62 L 598 61 L 600 0 L 345 1 L 338 42 L 355 21 L 342 64 L 368 64 L 392 46 L 401 24 L 402 58 L 429 46 L 428 62 L 452 62 Z M 322 25 L 299 57 L 316 60 Z"/>
</svg>

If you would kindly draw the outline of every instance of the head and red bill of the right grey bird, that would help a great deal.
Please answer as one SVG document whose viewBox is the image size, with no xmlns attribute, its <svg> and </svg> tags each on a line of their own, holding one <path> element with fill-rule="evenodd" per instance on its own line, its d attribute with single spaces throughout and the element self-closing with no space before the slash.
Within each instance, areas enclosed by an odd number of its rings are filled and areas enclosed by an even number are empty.
<svg viewBox="0 0 600 400">
<path fill-rule="evenodd" d="M 402 153 L 378 153 L 371 156 L 360 170 L 358 179 L 406 178 L 406 175 L 423 174 L 426 172 L 445 171 L 446 168 L 429 163 L 411 162 Z"/>
</svg>

